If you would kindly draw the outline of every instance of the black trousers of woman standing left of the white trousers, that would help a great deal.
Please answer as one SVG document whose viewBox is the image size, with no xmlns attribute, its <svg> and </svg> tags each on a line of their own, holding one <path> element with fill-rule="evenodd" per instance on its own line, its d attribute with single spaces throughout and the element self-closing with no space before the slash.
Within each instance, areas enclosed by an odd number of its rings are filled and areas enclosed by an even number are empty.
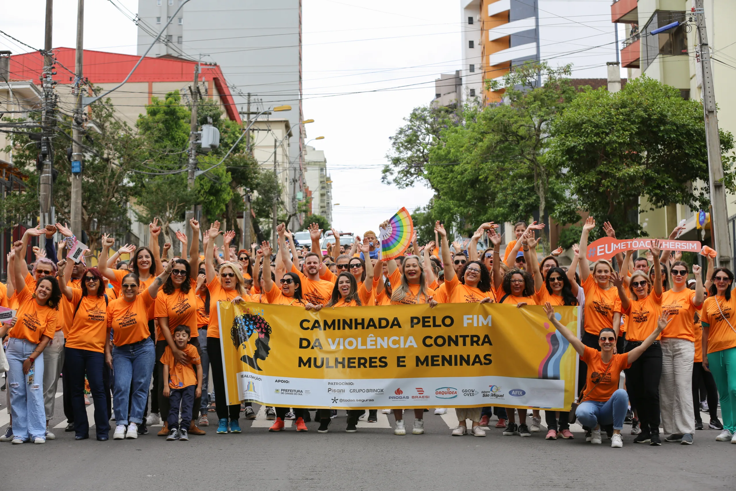
<svg viewBox="0 0 736 491">
<path fill-rule="evenodd" d="M 642 431 L 659 433 L 659 378 L 662 377 L 662 346 L 651 345 L 626 372 L 631 407 L 636 406 Z M 626 343 L 626 353 L 639 343 Z"/>
</svg>

